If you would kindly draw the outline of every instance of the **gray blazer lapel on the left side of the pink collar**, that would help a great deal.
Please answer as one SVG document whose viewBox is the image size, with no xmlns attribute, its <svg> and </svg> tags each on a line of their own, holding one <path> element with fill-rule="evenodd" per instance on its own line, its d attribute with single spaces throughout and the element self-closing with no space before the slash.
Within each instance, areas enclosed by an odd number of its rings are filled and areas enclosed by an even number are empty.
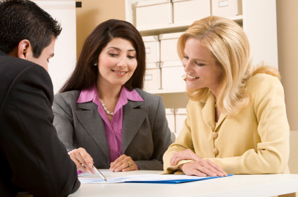
<svg viewBox="0 0 298 197">
<path fill-rule="evenodd" d="M 103 120 L 97 111 L 97 105 L 93 102 L 78 103 L 78 108 L 84 109 L 76 111 L 79 122 L 109 159 L 109 145 L 107 144 Z"/>
</svg>

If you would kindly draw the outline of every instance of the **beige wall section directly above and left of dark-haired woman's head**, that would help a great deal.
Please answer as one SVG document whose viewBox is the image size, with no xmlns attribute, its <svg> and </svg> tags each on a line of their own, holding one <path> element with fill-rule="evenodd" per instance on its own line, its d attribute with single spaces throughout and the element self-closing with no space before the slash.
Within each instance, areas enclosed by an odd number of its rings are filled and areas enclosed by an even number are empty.
<svg viewBox="0 0 298 197">
<path fill-rule="evenodd" d="M 125 0 L 81 0 L 76 8 L 76 57 L 79 57 L 86 37 L 105 20 L 126 19 Z"/>
</svg>

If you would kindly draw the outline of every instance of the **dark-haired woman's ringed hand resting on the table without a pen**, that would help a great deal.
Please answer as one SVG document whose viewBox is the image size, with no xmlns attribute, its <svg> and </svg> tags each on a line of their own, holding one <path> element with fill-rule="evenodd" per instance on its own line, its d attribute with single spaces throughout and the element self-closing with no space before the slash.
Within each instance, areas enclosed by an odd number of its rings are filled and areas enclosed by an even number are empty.
<svg viewBox="0 0 298 197">
<path fill-rule="evenodd" d="M 135 162 L 130 156 L 122 154 L 114 162 L 111 162 L 109 170 L 111 172 L 127 172 L 130 170 L 137 170 L 137 165 L 135 165 Z"/>
</svg>

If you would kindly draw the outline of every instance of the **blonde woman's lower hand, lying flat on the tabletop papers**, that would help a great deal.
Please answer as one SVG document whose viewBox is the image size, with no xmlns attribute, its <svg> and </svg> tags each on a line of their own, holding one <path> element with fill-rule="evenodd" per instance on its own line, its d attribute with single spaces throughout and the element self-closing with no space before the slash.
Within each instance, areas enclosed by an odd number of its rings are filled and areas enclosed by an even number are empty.
<svg viewBox="0 0 298 197">
<path fill-rule="evenodd" d="M 222 177 L 227 175 L 222 168 L 209 159 L 183 163 L 179 166 L 178 170 L 182 171 L 185 175 L 196 175 L 199 177 Z"/>
</svg>

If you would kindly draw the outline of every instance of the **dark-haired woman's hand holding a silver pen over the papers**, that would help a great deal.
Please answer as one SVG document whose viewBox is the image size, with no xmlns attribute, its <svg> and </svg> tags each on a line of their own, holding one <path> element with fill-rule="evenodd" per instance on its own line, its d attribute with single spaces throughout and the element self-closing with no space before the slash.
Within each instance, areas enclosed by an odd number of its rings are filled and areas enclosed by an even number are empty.
<svg viewBox="0 0 298 197">
<path fill-rule="evenodd" d="M 95 173 L 95 171 L 93 170 L 92 166 L 93 166 L 93 159 L 90 156 L 90 154 L 88 154 L 88 152 L 86 152 L 86 149 L 79 147 L 78 149 L 73 149 L 70 153 L 69 153 L 70 159 L 72 159 L 72 161 L 74 161 L 74 163 L 76 163 L 76 169 L 77 170 L 81 170 L 84 173 Z"/>
</svg>

